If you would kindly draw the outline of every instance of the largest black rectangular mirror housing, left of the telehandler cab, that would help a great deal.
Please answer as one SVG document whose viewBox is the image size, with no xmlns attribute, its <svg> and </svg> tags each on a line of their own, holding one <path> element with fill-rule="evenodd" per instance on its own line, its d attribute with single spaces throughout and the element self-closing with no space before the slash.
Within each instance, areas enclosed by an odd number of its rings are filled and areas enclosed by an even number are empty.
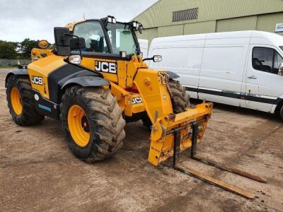
<svg viewBox="0 0 283 212">
<path fill-rule="evenodd" d="M 69 33 L 69 28 L 54 28 L 54 40 L 58 55 L 69 56 L 71 54 L 71 37 L 67 35 Z"/>
</svg>

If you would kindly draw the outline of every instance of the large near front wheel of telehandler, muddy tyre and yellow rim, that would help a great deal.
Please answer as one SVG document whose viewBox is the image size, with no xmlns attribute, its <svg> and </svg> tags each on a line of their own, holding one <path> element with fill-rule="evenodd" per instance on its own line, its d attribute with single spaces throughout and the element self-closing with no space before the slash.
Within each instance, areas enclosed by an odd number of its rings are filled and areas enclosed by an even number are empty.
<svg viewBox="0 0 283 212">
<path fill-rule="evenodd" d="M 122 148 L 125 120 L 110 90 L 75 86 L 62 96 L 62 128 L 76 157 L 105 160 Z"/>
</svg>

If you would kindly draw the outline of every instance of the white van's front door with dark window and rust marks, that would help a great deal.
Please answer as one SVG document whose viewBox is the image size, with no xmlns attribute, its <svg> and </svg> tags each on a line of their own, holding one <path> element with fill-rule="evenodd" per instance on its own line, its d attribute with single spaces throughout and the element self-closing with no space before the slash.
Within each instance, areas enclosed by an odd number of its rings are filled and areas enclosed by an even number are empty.
<svg viewBox="0 0 283 212">
<path fill-rule="evenodd" d="M 246 107 L 271 112 L 272 105 L 283 94 L 283 77 L 279 76 L 282 55 L 271 46 L 250 46 L 246 70 Z"/>
</svg>

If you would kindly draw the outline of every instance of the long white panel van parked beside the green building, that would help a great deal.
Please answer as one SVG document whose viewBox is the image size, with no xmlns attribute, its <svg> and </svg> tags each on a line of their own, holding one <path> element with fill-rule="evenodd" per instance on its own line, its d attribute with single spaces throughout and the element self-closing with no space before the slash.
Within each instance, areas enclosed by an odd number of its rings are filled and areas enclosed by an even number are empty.
<svg viewBox="0 0 283 212">
<path fill-rule="evenodd" d="M 178 73 L 191 98 L 281 114 L 283 37 L 260 31 L 159 37 L 152 69 Z M 279 70 L 281 64 L 281 69 Z"/>
</svg>

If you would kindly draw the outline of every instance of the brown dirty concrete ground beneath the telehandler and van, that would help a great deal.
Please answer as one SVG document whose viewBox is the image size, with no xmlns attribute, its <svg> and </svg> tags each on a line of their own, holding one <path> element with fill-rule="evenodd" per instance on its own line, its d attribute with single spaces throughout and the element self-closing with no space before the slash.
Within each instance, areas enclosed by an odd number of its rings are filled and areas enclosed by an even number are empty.
<svg viewBox="0 0 283 212">
<path fill-rule="evenodd" d="M 127 124 L 124 147 L 113 158 L 81 162 L 69 151 L 59 122 L 13 123 L 7 72 L 0 69 L 0 211 L 283 211 L 283 122 L 272 114 L 217 104 L 198 146 L 203 158 L 253 172 L 267 184 L 180 161 L 257 196 L 248 200 L 147 163 L 150 134 L 141 122 Z"/>
</svg>

